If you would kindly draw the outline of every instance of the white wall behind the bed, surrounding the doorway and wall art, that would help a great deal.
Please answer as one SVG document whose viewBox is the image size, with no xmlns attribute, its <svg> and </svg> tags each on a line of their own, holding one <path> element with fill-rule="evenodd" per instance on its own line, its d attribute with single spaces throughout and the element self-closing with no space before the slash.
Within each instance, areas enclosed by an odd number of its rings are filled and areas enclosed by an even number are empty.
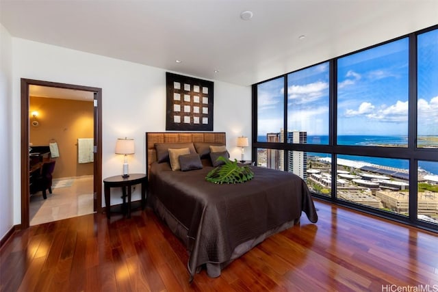
<svg viewBox="0 0 438 292">
<path fill-rule="evenodd" d="M 122 172 L 123 157 L 114 154 L 118 137 L 136 141 L 136 154 L 129 157 L 129 172 L 145 172 L 144 132 L 166 129 L 166 70 L 20 38 L 12 38 L 12 49 L 14 224 L 21 221 L 21 78 L 102 88 L 103 178 Z M 235 146 L 237 136 L 250 137 L 250 129 L 250 87 L 214 81 L 214 131 L 227 132 L 232 158 L 240 158 L 240 149 Z M 133 198 L 140 198 L 139 193 L 136 190 Z M 112 191 L 111 203 L 120 202 L 120 195 Z"/>
</svg>

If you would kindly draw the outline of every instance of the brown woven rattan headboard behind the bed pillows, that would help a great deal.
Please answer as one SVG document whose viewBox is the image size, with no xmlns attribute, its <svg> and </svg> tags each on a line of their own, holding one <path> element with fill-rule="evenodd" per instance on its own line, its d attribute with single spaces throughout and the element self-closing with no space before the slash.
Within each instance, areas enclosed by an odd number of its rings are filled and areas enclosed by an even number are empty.
<svg viewBox="0 0 438 292">
<path fill-rule="evenodd" d="M 218 142 L 226 143 L 224 132 L 146 132 L 146 165 L 149 175 L 151 164 L 157 161 L 155 143 Z"/>
</svg>

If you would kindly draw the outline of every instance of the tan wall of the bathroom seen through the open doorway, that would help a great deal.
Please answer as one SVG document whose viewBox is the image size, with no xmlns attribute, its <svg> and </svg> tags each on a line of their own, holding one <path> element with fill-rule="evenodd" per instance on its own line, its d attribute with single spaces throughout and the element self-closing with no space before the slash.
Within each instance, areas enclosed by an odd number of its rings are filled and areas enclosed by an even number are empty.
<svg viewBox="0 0 438 292">
<path fill-rule="evenodd" d="M 57 142 L 60 157 L 53 178 L 93 174 L 93 163 L 77 163 L 77 139 L 93 137 L 94 109 L 92 101 L 73 101 L 30 96 L 29 142 L 48 146 Z M 38 127 L 32 126 L 32 111 L 38 111 Z"/>
</svg>

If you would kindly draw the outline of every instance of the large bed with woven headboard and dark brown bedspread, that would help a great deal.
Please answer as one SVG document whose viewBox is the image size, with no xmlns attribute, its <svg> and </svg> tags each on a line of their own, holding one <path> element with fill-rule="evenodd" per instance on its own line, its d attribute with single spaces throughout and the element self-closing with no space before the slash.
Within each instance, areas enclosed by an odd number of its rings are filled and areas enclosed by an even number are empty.
<svg viewBox="0 0 438 292">
<path fill-rule="evenodd" d="M 146 132 L 147 204 L 185 244 L 190 280 L 201 269 L 220 276 L 266 237 L 299 224 L 302 212 L 311 222 L 318 220 L 307 185 L 292 173 L 250 166 L 254 178 L 246 183 L 205 181 L 214 169 L 207 146 L 225 142 L 225 133 Z M 166 149 L 186 146 L 190 153 L 185 156 L 198 154 L 202 168 L 172 170 Z"/>
</svg>

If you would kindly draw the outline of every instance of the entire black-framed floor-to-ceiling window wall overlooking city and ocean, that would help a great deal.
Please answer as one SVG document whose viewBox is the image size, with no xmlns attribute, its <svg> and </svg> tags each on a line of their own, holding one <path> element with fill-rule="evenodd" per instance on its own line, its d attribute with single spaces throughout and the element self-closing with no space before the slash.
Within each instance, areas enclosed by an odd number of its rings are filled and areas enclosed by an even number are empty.
<svg viewBox="0 0 438 292">
<path fill-rule="evenodd" d="M 257 165 L 438 231 L 438 27 L 253 85 Z"/>
</svg>

